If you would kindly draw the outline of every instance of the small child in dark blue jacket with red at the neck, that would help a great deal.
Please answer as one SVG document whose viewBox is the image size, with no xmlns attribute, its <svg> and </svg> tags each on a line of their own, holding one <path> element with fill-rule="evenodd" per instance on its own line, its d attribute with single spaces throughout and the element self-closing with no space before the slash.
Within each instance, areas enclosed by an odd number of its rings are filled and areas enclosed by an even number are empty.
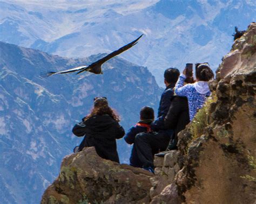
<svg viewBox="0 0 256 204">
<path fill-rule="evenodd" d="M 133 125 L 128 132 L 126 132 L 124 139 L 128 144 L 133 144 L 135 136 L 140 132 L 150 132 L 150 124 L 154 121 L 154 110 L 149 106 L 145 106 L 140 110 L 140 121 Z M 138 155 L 134 145 L 132 146 L 130 165 L 133 167 L 142 168 L 142 163 L 138 159 Z"/>
</svg>

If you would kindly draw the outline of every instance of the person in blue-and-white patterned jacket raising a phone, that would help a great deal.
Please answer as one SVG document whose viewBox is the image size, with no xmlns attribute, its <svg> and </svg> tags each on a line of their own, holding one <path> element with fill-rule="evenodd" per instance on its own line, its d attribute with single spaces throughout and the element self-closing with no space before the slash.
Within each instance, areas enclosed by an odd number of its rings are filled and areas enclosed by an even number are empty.
<svg viewBox="0 0 256 204">
<path fill-rule="evenodd" d="M 175 86 L 177 96 L 186 96 L 188 100 L 188 109 L 190 112 L 190 121 L 194 118 L 197 111 L 203 107 L 206 97 L 210 96 L 210 88 L 208 81 L 213 79 L 214 74 L 208 63 L 196 64 L 196 80 L 197 82 L 184 86 L 186 79 L 186 68 Z"/>
</svg>

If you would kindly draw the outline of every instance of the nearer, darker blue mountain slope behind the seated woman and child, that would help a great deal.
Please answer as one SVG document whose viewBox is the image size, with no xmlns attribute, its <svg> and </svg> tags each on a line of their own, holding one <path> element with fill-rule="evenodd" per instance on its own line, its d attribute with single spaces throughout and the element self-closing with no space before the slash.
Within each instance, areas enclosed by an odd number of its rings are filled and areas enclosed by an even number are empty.
<svg viewBox="0 0 256 204">
<path fill-rule="evenodd" d="M 60 161 L 82 138 L 72 126 L 106 96 L 127 130 L 144 105 L 157 108 L 161 89 L 145 67 L 114 58 L 103 75 L 59 75 L 39 79 L 44 71 L 90 64 L 103 56 L 68 59 L 0 43 L 0 189 L 3 203 L 37 203 L 55 179 Z M 122 162 L 130 146 L 118 141 Z M 5 193 L 9 192 L 9 193 Z"/>
</svg>

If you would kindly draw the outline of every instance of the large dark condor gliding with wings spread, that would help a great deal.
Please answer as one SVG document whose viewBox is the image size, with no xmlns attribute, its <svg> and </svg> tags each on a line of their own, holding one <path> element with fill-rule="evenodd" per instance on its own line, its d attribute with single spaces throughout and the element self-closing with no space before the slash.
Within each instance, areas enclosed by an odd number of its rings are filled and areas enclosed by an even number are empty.
<svg viewBox="0 0 256 204">
<path fill-rule="evenodd" d="M 72 69 L 68 69 L 65 71 L 61 71 L 61 72 L 46 72 L 46 73 L 42 73 L 40 75 L 40 78 L 45 78 L 54 74 L 66 74 L 66 73 L 71 73 L 71 72 L 77 72 L 76 74 L 80 74 L 82 72 L 91 72 L 94 74 L 103 74 L 102 72 L 102 65 L 104 64 L 104 62 L 106 62 L 107 60 L 110 60 L 111 58 L 115 57 L 118 54 L 121 54 L 122 52 L 129 50 L 132 46 L 136 45 L 138 43 L 138 40 L 143 36 L 143 34 L 138 37 L 136 40 L 133 40 L 131 43 L 119 48 L 119 50 L 114 51 L 108 55 L 106 55 L 106 57 L 99 59 L 96 62 L 93 62 L 91 65 L 89 66 L 81 66 L 81 67 L 76 67 L 76 68 L 72 68 Z"/>
</svg>

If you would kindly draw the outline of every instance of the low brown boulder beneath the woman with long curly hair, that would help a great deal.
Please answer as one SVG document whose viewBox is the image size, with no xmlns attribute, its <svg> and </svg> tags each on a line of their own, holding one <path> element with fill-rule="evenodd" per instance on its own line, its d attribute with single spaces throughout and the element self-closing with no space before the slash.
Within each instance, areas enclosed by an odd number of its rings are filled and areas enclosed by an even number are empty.
<svg viewBox="0 0 256 204">
<path fill-rule="evenodd" d="M 152 173 L 100 158 L 94 147 L 63 159 L 41 203 L 148 203 Z"/>
</svg>

